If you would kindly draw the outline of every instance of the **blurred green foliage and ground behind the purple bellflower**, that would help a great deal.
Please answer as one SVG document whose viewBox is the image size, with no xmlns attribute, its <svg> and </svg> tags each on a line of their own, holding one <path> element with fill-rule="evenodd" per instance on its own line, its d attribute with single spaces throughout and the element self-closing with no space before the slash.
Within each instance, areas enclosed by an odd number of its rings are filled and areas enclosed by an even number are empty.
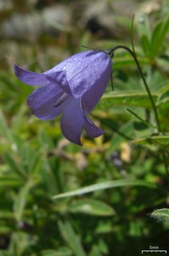
<svg viewBox="0 0 169 256">
<path fill-rule="evenodd" d="M 14 61 L 42 73 L 82 45 L 131 47 L 133 14 L 161 133 L 132 56 L 118 49 L 115 91 L 109 84 L 91 115 L 104 136 L 69 143 L 59 118 L 31 114 L 32 88 L 15 78 Z M 166 0 L 0 1 L 0 256 L 135 256 L 149 246 L 169 253 L 168 43 Z M 84 187 L 91 193 L 76 191 Z"/>
</svg>

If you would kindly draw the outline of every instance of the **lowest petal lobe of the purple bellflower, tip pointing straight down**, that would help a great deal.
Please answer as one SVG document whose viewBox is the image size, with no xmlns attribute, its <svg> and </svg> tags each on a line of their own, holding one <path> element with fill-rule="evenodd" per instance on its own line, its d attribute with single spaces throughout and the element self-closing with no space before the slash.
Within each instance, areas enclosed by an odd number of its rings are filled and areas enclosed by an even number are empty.
<svg viewBox="0 0 169 256">
<path fill-rule="evenodd" d="M 82 146 L 81 132 L 83 123 L 84 119 L 82 117 L 79 101 L 71 98 L 60 121 L 62 133 L 71 143 Z"/>
</svg>

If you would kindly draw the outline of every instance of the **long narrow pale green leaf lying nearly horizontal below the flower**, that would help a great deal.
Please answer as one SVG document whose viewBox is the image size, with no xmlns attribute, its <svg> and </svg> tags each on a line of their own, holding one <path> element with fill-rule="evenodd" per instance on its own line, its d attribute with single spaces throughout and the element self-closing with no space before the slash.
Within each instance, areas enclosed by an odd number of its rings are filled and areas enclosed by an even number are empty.
<svg viewBox="0 0 169 256">
<path fill-rule="evenodd" d="M 96 183 L 87 187 L 84 187 L 82 189 L 76 189 L 74 191 L 65 192 L 59 195 L 54 195 L 53 199 L 59 199 L 64 198 L 68 196 L 75 196 L 75 195 L 84 195 L 90 192 L 94 192 L 101 189 L 113 189 L 118 187 L 124 187 L 124 186 L 144 186 L 149 187 L 152 189 L 155 189 L 155 184 L 144 182 L 143 180 L 138 179 L 119 179 L 114 181 L 107 181 L 104 183 Z"/>
</svg>

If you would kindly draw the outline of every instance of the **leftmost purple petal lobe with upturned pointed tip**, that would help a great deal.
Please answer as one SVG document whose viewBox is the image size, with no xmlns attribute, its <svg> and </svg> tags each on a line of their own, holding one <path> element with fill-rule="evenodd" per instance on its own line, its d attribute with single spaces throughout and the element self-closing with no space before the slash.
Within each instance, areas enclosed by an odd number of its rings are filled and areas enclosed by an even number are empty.
<svg viewBox="0 0 169 256">
<path fill-rule="evenodd" d="M 35 73 L 18 66 L 14 63 L 14 73 L 16 77 L 23 83 L 29 85 L 45 85 L 49 84 L 44 73 Z"/>
</svg>

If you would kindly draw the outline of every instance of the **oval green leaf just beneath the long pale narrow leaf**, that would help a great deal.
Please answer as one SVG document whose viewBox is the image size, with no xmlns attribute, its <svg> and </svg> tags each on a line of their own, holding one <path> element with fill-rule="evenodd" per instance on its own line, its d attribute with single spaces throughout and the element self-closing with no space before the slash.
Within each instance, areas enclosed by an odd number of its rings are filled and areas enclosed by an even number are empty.
<svg viewBox="0 0 169 256">
<path fill-rule="evenodd" d="M 82 212 L 97 216 L 111 216 L 115 214 L 114 209 L 104 202 L 88 198 L 73 202 L 69 206 L 69 211 L 75 213 Z"/>
</svg>

